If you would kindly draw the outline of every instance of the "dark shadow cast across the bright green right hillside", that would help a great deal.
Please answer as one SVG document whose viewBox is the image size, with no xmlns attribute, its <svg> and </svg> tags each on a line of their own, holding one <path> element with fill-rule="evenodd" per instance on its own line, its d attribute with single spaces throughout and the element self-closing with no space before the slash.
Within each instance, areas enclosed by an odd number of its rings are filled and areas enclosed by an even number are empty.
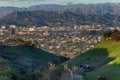
<svg viewBox="0 0 120 80">
<path fill-rule="evenodd" d="M 79 54 L 74 59 L 68 62 L 69 65 L 77 65 L 87 64 L 94 66 L 95 68 L 99 68 L 108 62 L 114 60 L 115 58 L 109 57 L 109 53 L 107 49 L 104 48 L 94 48 L 85 53 Z"/>
</svg>

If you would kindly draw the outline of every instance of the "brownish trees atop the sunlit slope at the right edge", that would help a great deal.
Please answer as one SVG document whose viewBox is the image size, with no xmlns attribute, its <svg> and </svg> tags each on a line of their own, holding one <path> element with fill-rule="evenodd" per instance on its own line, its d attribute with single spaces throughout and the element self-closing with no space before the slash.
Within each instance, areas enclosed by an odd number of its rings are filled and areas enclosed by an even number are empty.
<svg viewBox="0 0 120 80">
<path fill-rule="evenodd" d="M 104 33 L 105 40 L 113 39 L 116 41 L 120 41 L 120 31 L 119 30 L 113 30 L 113 31 L 106 31 Z"/>
</svg>

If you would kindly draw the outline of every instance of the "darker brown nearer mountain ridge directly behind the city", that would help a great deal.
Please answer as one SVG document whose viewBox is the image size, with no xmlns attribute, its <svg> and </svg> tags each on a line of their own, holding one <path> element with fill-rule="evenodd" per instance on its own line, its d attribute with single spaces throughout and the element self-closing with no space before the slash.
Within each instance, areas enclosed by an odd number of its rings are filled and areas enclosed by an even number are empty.
<svg viewBox="0 0 120 80">
<path fill-rule="evenodd" d="M 118 22 L 120 21 L 118 16 Z M 69 11 L 23 11 L 14 12 L 6 15 L 0 19 L 0 25 L 17 25 L 17 26 L 73 26 L 77 25 L 92 25 L 93 23 L 113 26 L 115 25 L 115 15 L 106 13 L 102 15 L 97 14 L 77 14 Z"/>
</svg>

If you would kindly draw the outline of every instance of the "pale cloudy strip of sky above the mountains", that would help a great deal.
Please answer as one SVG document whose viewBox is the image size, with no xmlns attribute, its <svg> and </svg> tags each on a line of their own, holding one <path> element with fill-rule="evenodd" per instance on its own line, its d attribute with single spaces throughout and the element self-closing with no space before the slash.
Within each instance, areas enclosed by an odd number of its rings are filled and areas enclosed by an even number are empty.
<svg viewBox="0 0 120 80">
<path fill-rule="evenodd" d="M 96 4 L 96 3 L 106 3 L 106 2 L 116 3 L 116 2 L 120 2 L 120 0 L 0 0 L 0 6 L 29 7 L 32 5 L 40 5 L 40 4 L 65 5 L 68 3 Z"/>
</svg>

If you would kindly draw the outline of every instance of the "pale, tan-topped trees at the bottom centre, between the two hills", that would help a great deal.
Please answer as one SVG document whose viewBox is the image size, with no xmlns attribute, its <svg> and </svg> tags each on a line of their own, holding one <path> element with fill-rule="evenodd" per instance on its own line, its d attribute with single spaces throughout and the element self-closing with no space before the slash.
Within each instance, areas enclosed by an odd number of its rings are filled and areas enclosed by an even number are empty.
<svg viewBox="0 0 120 80">
<path fill-rule="evenodd" d="M 78 66 L 71 66 L 71 68 L 67 64 L 55 65 L 51 62 L 48 62 L 48 68 L 50 70 L 48 80 L 61 80 L 64 77 L 64 80 L 70 80 L 71 72 L 77 73 Z"/>
</svg>

